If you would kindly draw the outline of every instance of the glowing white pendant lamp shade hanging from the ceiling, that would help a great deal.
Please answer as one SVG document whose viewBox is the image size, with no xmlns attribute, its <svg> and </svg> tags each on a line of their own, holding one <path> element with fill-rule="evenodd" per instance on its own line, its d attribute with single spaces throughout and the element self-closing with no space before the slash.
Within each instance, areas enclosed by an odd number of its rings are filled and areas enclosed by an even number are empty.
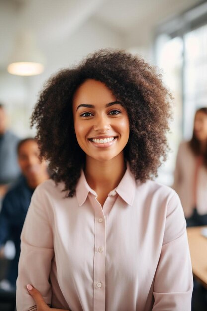
<svg viewBox="0 0 207 311">
<path fill-rule="evenodd" d="M 43 72 L 44 63 L 44 56 L 36 47 L 33 34 L 19 33 L 9 59 L 8 72 L 20 76 L 38 75 Z"/>
</svg>

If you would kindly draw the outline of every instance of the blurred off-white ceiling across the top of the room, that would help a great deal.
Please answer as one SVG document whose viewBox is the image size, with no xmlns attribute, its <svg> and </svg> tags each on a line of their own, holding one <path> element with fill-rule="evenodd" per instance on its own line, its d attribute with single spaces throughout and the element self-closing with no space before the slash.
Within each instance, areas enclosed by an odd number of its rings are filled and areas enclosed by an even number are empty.
<svg viewBox="0 0 207 311">
<path fill-rule="evenodd" d="M 0 0 L 0 68 L 5 67 L 16 33 L 22 29 L 32 30 L 40 45 L 58 44 L 93 20 L 123 36 L 128 48 L 141 42 L 141 37 L 150 37 L 163 19 L 199 2 L 202 0 Z"/>
</svg>

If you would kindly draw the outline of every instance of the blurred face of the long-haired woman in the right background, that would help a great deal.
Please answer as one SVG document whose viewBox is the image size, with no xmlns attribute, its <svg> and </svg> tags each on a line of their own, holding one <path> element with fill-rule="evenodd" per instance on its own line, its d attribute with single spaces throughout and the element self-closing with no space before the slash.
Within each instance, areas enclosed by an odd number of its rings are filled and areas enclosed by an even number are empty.
<svg viewBox="0 0 207 311">
<path fill-rule="evenodd" d="M 194 120 L 194 134 L 200 141 L 207 140 L 207 115 L 198 111 Z"/>
</svg>

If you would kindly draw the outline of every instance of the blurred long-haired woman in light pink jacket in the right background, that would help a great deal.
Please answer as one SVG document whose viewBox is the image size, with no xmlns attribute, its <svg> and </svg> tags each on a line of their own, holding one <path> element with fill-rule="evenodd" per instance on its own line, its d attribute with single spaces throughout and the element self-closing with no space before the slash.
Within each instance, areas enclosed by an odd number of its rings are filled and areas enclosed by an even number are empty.
<svg viewBox="0 0 207 311">
<path fill-rule="evenodd" d="M 193 136 L 178 149 L 173 188 L 187 226 L 207 225 L 207 108 L 196 111 Z"/>
</svg>

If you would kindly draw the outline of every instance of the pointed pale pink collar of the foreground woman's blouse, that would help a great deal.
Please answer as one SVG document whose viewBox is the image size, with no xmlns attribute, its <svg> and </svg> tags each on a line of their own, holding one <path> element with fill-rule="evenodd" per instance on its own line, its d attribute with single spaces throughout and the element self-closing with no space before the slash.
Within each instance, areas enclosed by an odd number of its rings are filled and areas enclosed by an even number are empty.
<svg viewBox="0 0 207 311">
<path fill-rule="evenodd" d="M 135 186 L 135 177 L 130 171 L 129 164 L 127 164 L 127 169 L 124 176 L 122 177 L 122 180 L 120 181 L 117 188 L 113 191 L 116 191 L 127 204 L 132 205 L 135 197 Z M 88 185 L 85 174 L 82 170 L 76 186 L 76 197 L 79 206 L 83 205 L 89 192 L 97 197 L 96 192 Z"/>
</svg>

